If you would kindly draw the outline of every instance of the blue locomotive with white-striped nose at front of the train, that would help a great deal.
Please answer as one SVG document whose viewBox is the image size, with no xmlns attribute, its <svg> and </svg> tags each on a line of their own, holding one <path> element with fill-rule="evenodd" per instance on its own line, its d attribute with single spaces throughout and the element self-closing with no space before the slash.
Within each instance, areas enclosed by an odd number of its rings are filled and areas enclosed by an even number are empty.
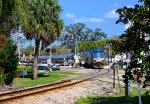
<svg viewBox="0 0 150 104">
<path fill-rule="evenodd" d="M 105 51 L 100 48 L 82 52 L 80 56 L 81 56 L 80 63 L 84 62 L 85 67 L 92 67 L 92 68 L 104 67 Z"/>
</svg>

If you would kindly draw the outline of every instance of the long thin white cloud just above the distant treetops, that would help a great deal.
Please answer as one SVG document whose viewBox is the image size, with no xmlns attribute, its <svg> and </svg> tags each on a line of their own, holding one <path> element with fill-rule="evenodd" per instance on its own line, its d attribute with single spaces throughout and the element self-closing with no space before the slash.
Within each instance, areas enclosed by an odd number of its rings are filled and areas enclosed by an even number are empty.
<svg viewBox="0 0 150 104">
<path fill-rule="evenodd" d="M 87 23 L 87 22 L 90 22 L 90 23 L 102 23 L 104 22 L 103 19 L 101 18 L 94 18 L 94 17 L 91 17 L 91 18 L 88 18 L 88 17 L 80 17 L 80 18 L 75 18 L 73 20 L 75 23 L 78 23 L 78 22 L 82 22 L 82 23 Z"/>
</svg>

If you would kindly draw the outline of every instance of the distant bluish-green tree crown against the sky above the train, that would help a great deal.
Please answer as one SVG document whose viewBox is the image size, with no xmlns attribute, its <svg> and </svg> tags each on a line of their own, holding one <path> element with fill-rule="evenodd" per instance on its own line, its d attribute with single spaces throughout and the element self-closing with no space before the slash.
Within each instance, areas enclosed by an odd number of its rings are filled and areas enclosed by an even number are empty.
<svg viewBox="0 0 150 104">
<path fill-rule="evenodd" d="M 107 34 L 102 32 L 100 28 L 96 28 L 95 30 L 92 30 L 90 28 L 87 28 L 86 25 L 83 23 L 76 23 L 76 24 L 65 26 L 64 31 L 61 34 L 60 40 L 63 41 L 64 44 L 68 46 L 68 48 L 74 51 L 74 47 L 76 43 L 80 43 L 81 41 L 101 41 L 103 38 L 106 39 L 106 37 Z M 87 50 L 87 49 L 83 49 L 83 50 Z"/>
</svg>

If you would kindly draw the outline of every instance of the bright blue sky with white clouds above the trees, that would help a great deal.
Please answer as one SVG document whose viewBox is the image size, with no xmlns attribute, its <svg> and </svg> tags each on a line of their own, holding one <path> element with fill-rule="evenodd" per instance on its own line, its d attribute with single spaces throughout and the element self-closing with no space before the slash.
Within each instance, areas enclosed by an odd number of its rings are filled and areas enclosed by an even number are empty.
<svg viewBox="0 0 150 104">
<path fill-rule="evenodd" d="M 108 37 L 121 35 L 125 26 L 115 24 L 118 15 L 115 10 L 123 6 L 134 6 L 138 0 L 59 0 L 63 9 L 65 25 L 85 23 L 91 29 L 101 28 Z"/>
</svg>

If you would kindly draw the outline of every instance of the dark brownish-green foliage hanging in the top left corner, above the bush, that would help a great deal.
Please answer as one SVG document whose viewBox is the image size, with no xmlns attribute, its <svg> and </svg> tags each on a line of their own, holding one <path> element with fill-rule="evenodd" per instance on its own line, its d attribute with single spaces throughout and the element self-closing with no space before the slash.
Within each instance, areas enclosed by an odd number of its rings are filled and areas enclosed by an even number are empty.
<svg viewBox="0 0 150 104">
<path fill-rule="evenodd" d="M 0 33 L 7 37 L 16 25 L 13 17 L 14 5 L 15 0 L 0 0 Z"/>
</svg>

